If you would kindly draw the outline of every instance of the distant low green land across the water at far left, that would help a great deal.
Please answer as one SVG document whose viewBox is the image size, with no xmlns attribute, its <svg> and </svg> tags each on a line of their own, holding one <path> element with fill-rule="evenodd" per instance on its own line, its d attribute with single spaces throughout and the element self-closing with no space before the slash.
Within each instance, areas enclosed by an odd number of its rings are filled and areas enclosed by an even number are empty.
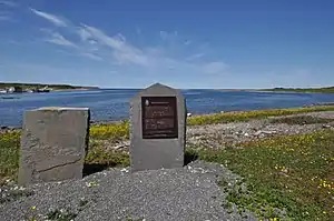
<svg viewBox="0 0 334 221">
<path fill-rule="evenodd" d="M 6 89 L 10 87 L 20 87 L 23 90 L 31 88 L 45 88 L 48 86 L 55 90 L 68 90 L 68 89 L 97 89 L 96 87 L 80 87 L 80 86 L 68 86 L 68 84 L 41 84 L 41 83 L 1 83 L 0 89 Z"/>
</svg>

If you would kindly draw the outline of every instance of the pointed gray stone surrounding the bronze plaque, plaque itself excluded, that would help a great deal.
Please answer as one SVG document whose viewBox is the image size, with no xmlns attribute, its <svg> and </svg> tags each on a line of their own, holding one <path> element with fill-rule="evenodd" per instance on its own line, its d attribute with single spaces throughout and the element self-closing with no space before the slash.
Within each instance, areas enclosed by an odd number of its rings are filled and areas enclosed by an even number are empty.
<svg viewBox="0 0 334 221">
<path fill-rule="evenodd" d="M 175 97 L 177 138 L 143 138 L 143 97 Z M 131 171 L 181 168 L 185 162 L 186 102 L 179 90 L 156 83 L 140 91 L 130 101 Z"/>
</svg>

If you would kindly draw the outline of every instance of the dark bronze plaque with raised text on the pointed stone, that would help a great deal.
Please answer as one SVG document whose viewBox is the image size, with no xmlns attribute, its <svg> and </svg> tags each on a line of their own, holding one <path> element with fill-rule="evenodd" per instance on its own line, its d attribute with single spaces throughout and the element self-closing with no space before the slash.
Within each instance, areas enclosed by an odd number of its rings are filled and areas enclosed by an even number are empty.
<svg viewBox="0 0 334 221">
<path fill-rule="evenodd" d="M 141 97 L 143 139 L 178 138 L 176 97 Z"/>
</svg>

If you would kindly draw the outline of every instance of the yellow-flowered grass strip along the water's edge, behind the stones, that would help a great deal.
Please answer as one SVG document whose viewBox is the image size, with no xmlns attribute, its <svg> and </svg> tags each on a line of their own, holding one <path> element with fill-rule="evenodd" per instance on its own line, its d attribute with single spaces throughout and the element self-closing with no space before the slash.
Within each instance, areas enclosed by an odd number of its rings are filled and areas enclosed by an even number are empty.
<svg viewBox="0 0 334 221">
<path fill-rule="evenodd" d="M 264 119 L 276 115 L 289 115 L 316 111 L 334 111 L 334 106 L 312 108 L 273 109 L 261 111 L 227 112 L 207 115 L 195 115 L 187 120 L 188 125 L 228 123 Z M 129 121 L 111 124 L 92 125 L 90 128 L 90 148 L 86 158 L 88 164 L 104 164 L 106 167 L 128 165 L 128 153 L 107 151 L 100 141 L 115 143 L 129 139 Z M 20 132 L 0 134 L 0 184 L 6 179 L 16 180 L 19 167 Z"/>
</svg>

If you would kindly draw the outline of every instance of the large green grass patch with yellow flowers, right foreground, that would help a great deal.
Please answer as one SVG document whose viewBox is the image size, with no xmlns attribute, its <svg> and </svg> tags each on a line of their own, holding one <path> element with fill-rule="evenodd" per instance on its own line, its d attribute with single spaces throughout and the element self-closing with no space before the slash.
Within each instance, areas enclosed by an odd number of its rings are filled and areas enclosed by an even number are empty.
<svg viewBox="0 0 334 221">
<path fill-rule="evenodd" d="M 246 142 L 244 149 L 199 150 L 198 155 L 245 179 L 247 190 L 236 185 L 227 197 L 240 210 L 266 219 L 330 220 L 334 217 L 333 143 L 334 131 L 324 130 Z"/>
</svg>

